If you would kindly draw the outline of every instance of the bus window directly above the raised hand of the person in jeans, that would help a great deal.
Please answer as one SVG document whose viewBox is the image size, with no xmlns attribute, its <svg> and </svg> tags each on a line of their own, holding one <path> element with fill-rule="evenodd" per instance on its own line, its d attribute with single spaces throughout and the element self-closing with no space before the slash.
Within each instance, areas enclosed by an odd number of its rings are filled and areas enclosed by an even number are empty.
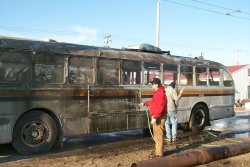
<svg viewBox="0 0 250 167">
<path fill-rule="evenodd" d="M 193 66 L 181 65 L 180 84 L 181 85 L 193 85 Z"/>
</svg>

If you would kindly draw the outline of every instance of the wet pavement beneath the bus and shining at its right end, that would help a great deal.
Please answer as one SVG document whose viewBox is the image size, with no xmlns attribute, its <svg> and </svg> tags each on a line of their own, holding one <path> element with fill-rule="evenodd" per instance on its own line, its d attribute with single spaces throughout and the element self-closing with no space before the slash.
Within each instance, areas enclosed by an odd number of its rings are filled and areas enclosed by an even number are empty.
<svg viewBox="0 0 250 167">
<path fill-rule="evenodd" d="M 208 133 L 210 132 L 210 133 Z M 192 133 L 178 131 L 180 140 L 201 138 L 206 140 L 206 134 L 230 136 L 235 138 L 250 138 L 250 111 L 237 111 L 234 117 L 211 121 L 211 126 L 207 126 L 204 132 Z M 124 140 L 145 139 L 143 130 L 129 130 L 114 133 L 93 134 L 77 138 L 65 138 L 64 149 L 68 147 L 81 147 L 95 146 L 103 143 L 119 142 Z M 202 139 L 205 138 L 205 139 Z"/>
</svg>

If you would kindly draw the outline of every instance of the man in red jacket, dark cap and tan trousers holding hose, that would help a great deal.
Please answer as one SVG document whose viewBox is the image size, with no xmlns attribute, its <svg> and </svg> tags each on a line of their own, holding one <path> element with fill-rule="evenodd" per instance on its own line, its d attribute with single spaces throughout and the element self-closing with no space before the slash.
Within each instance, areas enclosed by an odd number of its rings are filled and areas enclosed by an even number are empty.
<svg viewBox="0 0 250 167">
<path fill-rule="evenodd" d="M 164 139 L 164 124 L 167 115 L 167 97 L 165 88 L 161 84 L 161 80 L 153 78 L 150 82 L 155 90 L 153 98 L 141 103 L 149 107 L 149 115 L 151 116 L 151 124 L 153 125 L 153 135 L 155 140 L 155 154 L 150 155 L 150 158 L 163 156 L 163 139 Z"/>
</svg>

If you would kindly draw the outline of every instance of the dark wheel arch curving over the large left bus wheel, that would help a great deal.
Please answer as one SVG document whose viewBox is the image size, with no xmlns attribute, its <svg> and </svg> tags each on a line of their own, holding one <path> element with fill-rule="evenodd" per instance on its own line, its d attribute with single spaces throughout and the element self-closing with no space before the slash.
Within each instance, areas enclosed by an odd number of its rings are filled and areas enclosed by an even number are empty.
<svg viewBox="0 0 250 167">
<path fill-rule="evenodd" d="M 24 112 L 22 115 L 20 115 L 20 117 L 18 119 L 20 119 L 23 115 L 25 115 L 29 112 L 32 112 L 32 111 L 44 112 L 44 113 L 48 114 L 54 120 L 56 127 L 57 127 L 57 139 L 55 142 L 55 146 L 62 147 L 63 146 L 63 132 L 62 132 L 62 128 L 61 128 L 62 126 L 61 126 L 61 122 L 60 122 L 59 118 L 56 116 L 56 114 L 54 112 L 52 112 L 51 110 L 46 109 L 46 108 L 32 108 L 32 109 Z"/>
</svg>

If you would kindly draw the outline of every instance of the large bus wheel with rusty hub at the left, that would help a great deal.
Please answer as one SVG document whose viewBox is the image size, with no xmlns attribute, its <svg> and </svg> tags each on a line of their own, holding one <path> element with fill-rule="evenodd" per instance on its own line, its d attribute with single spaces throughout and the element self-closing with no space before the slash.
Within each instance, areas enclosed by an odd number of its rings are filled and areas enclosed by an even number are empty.
<svg viewBox="0 0 250 167">
<path fill-rule="evenodd" d="M 33 110 L 20 117 L 13 129 L 12 144 L 21 154 L 41 154 L 55 144 L 57 127 L 42 111 Z"/>
</svg>

